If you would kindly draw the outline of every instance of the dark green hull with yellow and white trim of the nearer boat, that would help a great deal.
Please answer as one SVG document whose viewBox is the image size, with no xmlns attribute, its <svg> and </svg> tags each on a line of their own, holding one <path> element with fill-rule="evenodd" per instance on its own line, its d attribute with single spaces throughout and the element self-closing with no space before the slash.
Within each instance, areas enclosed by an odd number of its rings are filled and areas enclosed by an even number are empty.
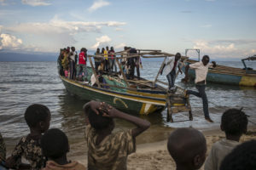
<svg viewBox="0 0 256 170">
<path fill-rule="evenodd" d="M 160 112 L 165 109 L 166 99 L 165 94 L 148 94 L 143 96 L 139 94 L 119 93 L 112 90 L 91 87 L 87 84 L 82 84 L 65 77 L 61 80 L 70 94 L 79 96 L 84 100 L 104 101 L 109 105 L 131 114 L 150 114 Z"/>
</svg>

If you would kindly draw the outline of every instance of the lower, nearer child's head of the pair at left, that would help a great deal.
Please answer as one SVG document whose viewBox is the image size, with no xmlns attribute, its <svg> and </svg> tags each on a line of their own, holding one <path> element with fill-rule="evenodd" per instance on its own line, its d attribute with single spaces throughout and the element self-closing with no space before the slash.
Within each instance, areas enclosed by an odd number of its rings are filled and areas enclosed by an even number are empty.
<svg viewBox="0 0 256 170">
<path fill-rule="evenodd" d="M 60 129 L 51 128 L 46 131 L 41 139 L 44 156 L 51 160 L 66 156 L 69 151 L 68 139 Z"/>
</svg>

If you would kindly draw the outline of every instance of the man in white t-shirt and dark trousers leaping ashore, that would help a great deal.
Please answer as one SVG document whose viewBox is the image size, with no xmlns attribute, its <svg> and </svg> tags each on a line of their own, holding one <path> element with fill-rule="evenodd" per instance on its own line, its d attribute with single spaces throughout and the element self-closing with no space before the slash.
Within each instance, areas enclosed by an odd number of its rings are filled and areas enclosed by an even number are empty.
<svg viewBox="0 0 256 170">
<path fill-rule="evenodd" d="M 208 99 L 207 99 L 207 94 L 205 92 L 205 89 L 206 89 L 206 84 L 207 84 L 208 68 L 216 67 L 216 62 L 212 61 L 212 64 L 209 64 L 209 60 L 210 60 L 209 56 L 204 55 L 200 62 L 196 62 L 191 65 L 187 65 L 186 71 L 185 71 L 185 77 L 183 80 L 184 80 L 184 82 L 188 82 L 189 81 L 189 75 L 188 75 L 189 68 L 195 69 L 195 88 L 197 88 L 198 92 L 195 92 L 192 90 L 187 90 L 187 91 L 185 91 L 185 95 L 193 94 L 193 95 L 201 98 L 202 102 L 203 102 L 203 111 L 204 111 L 205 119 L 207 120 L 207 122 L 213 122 L 209 116 Z"/>
</svg>

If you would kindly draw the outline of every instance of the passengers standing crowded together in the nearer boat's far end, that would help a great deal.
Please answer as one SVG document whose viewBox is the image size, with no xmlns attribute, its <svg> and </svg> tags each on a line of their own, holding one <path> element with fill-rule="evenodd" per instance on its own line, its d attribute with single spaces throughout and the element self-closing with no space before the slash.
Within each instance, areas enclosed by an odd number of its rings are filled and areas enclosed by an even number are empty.
<svg viewBox="0 0 256 170">
<path fill-rule="evenodd" d="M 134 54 L 133 57 L 128 57 L 129 54 Z M 134 79 L 135 68 L 137 69 L 137 78 L 140 79 L 140 67 L 142 60 L 137 54 L 136 48 L 124 47 L 124 53 L 120 56 L 120 66 L 125 73 L 127 79 Z M 81 48 L 78 54 L 74 47 L 61 48 L 58 58 L 59 74 L 72 80 L 89 82 L 91 75 L 87 70 L 88 54 L 86 48 Z M 116 64 L 116 54 L 111 47 L 96 49 L 94 54 L 94 68 L 97 75 L 108 74 L 122 77 Z"/>
</svg>

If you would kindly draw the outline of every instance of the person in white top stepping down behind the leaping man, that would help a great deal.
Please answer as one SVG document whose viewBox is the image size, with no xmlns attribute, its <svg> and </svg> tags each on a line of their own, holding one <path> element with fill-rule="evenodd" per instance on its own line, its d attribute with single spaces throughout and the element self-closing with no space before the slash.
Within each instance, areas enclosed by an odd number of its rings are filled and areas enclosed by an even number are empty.
<svg viewBox="0 0 256 170">
<path fill-rule="evenodd" d="M 181 74 L 183 74 L 183 71 L 181 71 L 180 68 L 180 58 L 181 58 L 181 54 L 177 53 L 175 55 L 175 58 L 173 57 L 168 57 L 166 59 L 166 63 L 164 64 L 162 70 L 160 71 L 160 75 L 162 75 L 163 71 L 165 70 L 166 73 L 166 77 L 169 83 L 169 87 L 168 89 L 170 91 L 174 90 L 174 83 L 175 83 L 175 79 L 176 79 L 176 70 L 178 68 L 178 71 L 180 71 Z"/>
</svg>

